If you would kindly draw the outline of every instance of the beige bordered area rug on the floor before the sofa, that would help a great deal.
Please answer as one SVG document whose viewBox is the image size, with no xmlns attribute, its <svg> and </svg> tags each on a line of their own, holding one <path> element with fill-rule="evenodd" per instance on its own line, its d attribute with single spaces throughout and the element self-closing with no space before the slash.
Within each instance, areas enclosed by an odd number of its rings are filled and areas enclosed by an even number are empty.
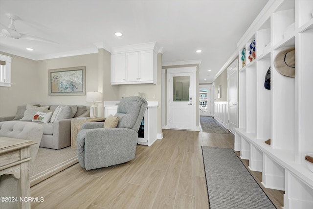
<svg viewBox="0 0 313 209">
<path fill-rule="evenodd" d="M 59 150 L 39 147 L 30 173 L 30 186 L 44 181 L 75 163 L 78 163 L 77 149 L 71 149 L 70 146 Z"/>
</svg>

